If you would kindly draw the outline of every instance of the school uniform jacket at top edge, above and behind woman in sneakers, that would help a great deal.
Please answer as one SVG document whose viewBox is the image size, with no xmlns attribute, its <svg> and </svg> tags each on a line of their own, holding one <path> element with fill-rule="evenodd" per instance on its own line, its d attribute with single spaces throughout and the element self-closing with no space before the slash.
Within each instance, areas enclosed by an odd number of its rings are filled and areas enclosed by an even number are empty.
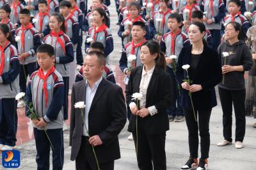
<svg viewBox="0 0 256 170">
<path fill-rule="evenodd" d="M 225 17 L 225 4 L 222 0 L 213 0 L 212 1 L 212 17 L 211 17 L 211 0 L 203 0 L 202 5 L 200 6 L 202 12 L 207 12 L 207 19 L 212 19 L 211 24 L 205 24 L 206 29 L 221 29 L 221 22 Z"/>
</svg>

